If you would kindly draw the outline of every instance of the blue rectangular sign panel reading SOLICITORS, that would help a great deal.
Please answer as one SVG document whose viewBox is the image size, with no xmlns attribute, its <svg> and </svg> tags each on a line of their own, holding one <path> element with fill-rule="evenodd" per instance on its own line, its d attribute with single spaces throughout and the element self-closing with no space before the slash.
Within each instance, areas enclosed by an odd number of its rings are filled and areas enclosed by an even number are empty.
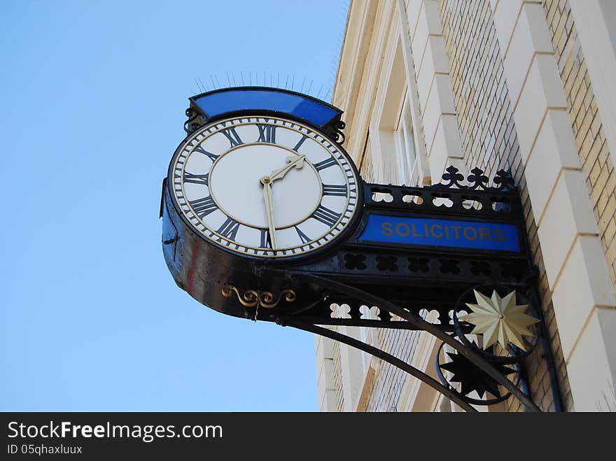
<svg viewBox="0 0 616 461">
<path fill-rule="evenodd" d="M 360 241 L 519 252 L 517 228 L 495 222 L 371 214 Z"/>
</svg>

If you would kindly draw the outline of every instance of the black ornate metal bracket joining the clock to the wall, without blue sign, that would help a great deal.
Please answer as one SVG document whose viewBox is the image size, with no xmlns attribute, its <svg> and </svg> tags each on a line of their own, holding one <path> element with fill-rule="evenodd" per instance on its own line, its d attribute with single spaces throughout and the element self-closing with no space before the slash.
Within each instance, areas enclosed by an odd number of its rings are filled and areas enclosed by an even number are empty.
<svg viewBox="0 0 616 461">
<path fill-rule="evenodd" d="M 498 215 L 499 220 L 521 219 L 519 218 L 522 215 L 521 204 L 517 190 L 512 178 L 505 171 L 498 171 L 492 186 L 488 185 L 488 178 L 483 171 L 477 168 L 472 169 L 466 184 L 463 183 L 463 175 L 454 166 L 449 166 L 443 179 L 444 183 L 430 187 L 367 184 L 364 188 L 365 207 L 369 212 L 374 207 L 375 210 L 381 212 L 391 210 L 392 213 L 412 208 L 416 213 L 432 215 L 443 213 L 442 207 L 446 206 L 449 210 L 447 213 L 451 213 L 452 216 L 458 214 L 468 218 L 470 215 L 477 215 L 477 218 L 485 219 Z M 380 197 L 382 201 L 379 201 L 379 194 L 388 196 L 388 199 L 382 200 L 383 197 Z M 449 201 L 449 204 L 444 204 L 444 201 Z M 524 251 L 527 251 L 527 242 L 524 242 L 524 245 Z M 430 252 L 405 253 L 398 248 L 392 249 L 388 254 L 386 248 L 371 252 L 370 248 L 362 246 L 360 242 L 351 238 L 337 255 L 337 260 L 340 264 L 338 269 L 327 277 L 325 274 L 322 276 L 315 274 L 314 271 L 311 274 L 309 271 L 286 271 L 285 276 L 289 283 L 299 280 L 310 281 L 321 288 L 325 296 L 321 302 L 303 311 L 276 315 L 272 320 L 281 325 L 290 325 L 328 336 L 376 355 L 420 378 L 468 411 L 474 411 L 472 405 L 496 404 L 511 396 L 518 399 L 528 411 L 540 411 L 531 397 L 519 387 L 524 385 L 526 374 L 524 359 L 539 343 L 542 343 L 549 362 L 555 409 L 561 410 L 553 357 L 545 338 L 546 328 L 538 307 L 538 296 L 533 280 L 534 271 L 526 253 L 503 256 L 502 260 L 499 260 L 497 255 L 478 259 L 477 255 L 469 258 L 464 253 L 455 255 L 444 253 L 435 258 Z M 348 276 L 346 272 L 349 273 Z M 430 288 L 426 289 L 426 284 Z M 496 293 L 495 284 L 500 285 L 498 290 L 501 290 L 502 299 L 507 297 L 507 294 L 511 295 L 512 290 L 517 290 L 516 296 L 521 296 L 522 303 L 527 302 L 535 307 L 533 314 L 540 321 L 530 317 L 519 317 L 521 323 L 513 325 L 513 331 L 517 328 L 517 331 L 522 333 L 525 327 L 531 327 L 535 341 L 528 343 L 521 339 L 519 334 L 517 336 L 504 334 L 503 341 L 500 341 L 502 344 L 484 350 L 468 339 L 468 334 L 478 332 L 477 325 L 461 321 L 458 313 L 470 311 L 468 303 L 474 303 L 475 297 L 470 299 L 469 296 L 473 294 L 474 289 L 488 290 L 484 291 L 484 295 L 489 297 L 492 293 Z M 452 297 L 457 301 L 452 301 Z M 499 295 L 496 295 L 496 298 L 502 300 Z M 332 303 L 345 306 L 342 316 L 339 315 L 341 311 L 338 309 L 334 311 L 330 309 Z M 365 315 L 365 311 L 362 311 L 363 306 L 368 308 L 377 306 L 377 308 L 371 315 Z M 525 306 L 517 306 L 513 302 L 510 307 L 514 311 L 517 309 L 515 315 L 519 316 L 518 311 Z M 499 308 L 504 307 L 497 305 L 493 308 L 495 328 L 500 328 L 499 317 L 503 318 L 498 311 Z M 421 318 L 422 310 L 433 309 L 440 314 L 437 324 L 428 323 Z M 535 323 L 536 325 L 533 325 Z M 441 357 L 438 355 L 435 357 L 437 376 L 441 381 L 435 383 L 429 376 L 425 376 L 421 371 L 388 355 L 383 350 L 318 325 L 421 329 L 436 336 L 442 341 L 442 345 L 447 344 L 454 352 L 447 352 L 449 361 L 444 363 L 441 362 Z M 507 328 L 511 327 L 512 325 L 507 325 Z M 490 341 L 490 338 L 491 336 L 486 336 L 485 340 Z M 510 345 L 512 339 L 517 346 Z M 505 345 L 506 347 L 503 347 Z M 446 378 L 447 371 L 452 374 L 449 379 Z M 507 379 L 508 375 L 513 375 L 514 380 Z M 461 389 L 458 390 L 452 382 L 460 383 Z M 503 395 L 499 393 L 499 385 L 505 388 Z M 472 390 L 476 390 L 480 397 L 485 392 L 489 392 L 493 397 L 475 399 L 468 395 Z"/>
</svg>

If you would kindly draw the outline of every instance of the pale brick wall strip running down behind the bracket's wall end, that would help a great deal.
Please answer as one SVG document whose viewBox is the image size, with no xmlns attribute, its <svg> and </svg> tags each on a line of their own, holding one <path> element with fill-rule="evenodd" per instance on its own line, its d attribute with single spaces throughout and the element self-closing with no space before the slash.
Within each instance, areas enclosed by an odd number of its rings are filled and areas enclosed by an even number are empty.
<svg viewBox="0 0 616 461">
<path fill-rule="evenodd" d="M 528 197 L 524 166 L 519 152 L 514 107 L 503 69 L 503 57 L 488 0 L 440 0 L 443 36 L 449 58 L 451 85 L 458 114 L 464 159 L 468 170 L 474 166 L 493 176 L 498 169 L 510 170 L 520 187 L 526 229 L 534 263 L 540 269 L 542 309 L 549 326 L 563 400 L 572 406 L 566 365 L 554 320 L 551 293 L 542 262 L 537 225 Z M 554 411 L 547 362 L 541 349 L 528 358 L 528 376 L 533 400 L 544 411 Z M 524 411 L 509 399 L 510 411 Z"/>
</svg>

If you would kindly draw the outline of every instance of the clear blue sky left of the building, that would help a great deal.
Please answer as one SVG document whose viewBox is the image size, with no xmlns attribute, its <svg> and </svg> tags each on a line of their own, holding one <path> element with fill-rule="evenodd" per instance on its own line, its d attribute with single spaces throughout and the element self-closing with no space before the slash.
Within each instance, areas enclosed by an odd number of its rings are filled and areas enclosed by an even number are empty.
<svg viewBox="0 0 616 461">
<path fill-rule="evenodd" d="M 313 336 L 177 288 L 158 208 L 187 98 L 329 100 L 347 3 L 0 3 L 0 409 L 317 409 Z"/>
</svg>

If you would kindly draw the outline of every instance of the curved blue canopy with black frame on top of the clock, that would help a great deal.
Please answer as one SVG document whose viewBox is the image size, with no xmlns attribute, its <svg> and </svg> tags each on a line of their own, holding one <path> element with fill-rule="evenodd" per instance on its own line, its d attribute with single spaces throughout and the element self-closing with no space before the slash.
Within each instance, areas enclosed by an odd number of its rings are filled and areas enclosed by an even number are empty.
<svg viewBox="0 0 616 461">
<path fill-rule="evenodd" d="M 190 103 L 202 123 L 237 113 L 269 112 L 322 129 L 339 122 L 342 115 L 338 108 L 307 94 L 269 87 L 221 88 L 193 96 Z"/>
</svg>

